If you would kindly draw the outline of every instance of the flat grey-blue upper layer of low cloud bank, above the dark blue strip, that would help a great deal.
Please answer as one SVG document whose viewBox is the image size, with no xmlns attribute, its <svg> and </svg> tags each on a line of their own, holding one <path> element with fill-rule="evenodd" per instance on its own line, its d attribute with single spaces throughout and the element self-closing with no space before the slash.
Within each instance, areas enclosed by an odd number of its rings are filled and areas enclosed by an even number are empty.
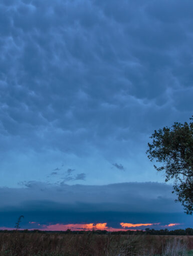
<svg viewBox="0 0 193 256">
<path fill-rule="evenodd" d="M 120 183 L 103 186 L 59 185 L 36 181 L 21 183 L 23 188 L 0 188 L 1 209 L 5 207 L 29 207 L 45 209 L 42 201 L 49 207 L 49 202 L 58 204 L 63 209 L 77 211 L 119 211 L 119 212 L 182 212 L 170 185 L 161 183 Z M 48 203 L 47 203 L 48 202 Z M 30 206 L 31 205 L 31 206 Z M 92 205 L 92 207 L 91 207 Z M 27 208 L 26 208 L 27 207 Z M 42 208 L 43 207 L 43 208 Z"/>
</svg>

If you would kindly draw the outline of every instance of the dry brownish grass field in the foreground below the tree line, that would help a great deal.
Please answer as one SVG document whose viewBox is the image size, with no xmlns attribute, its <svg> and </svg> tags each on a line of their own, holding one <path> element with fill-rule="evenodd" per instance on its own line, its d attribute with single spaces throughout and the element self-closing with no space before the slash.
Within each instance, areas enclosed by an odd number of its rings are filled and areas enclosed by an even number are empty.
<svg viewBox="0 0 193 256">
<path fill-rule="evenodd" d="M 0 256 L 192 255 L 192 236 L 0 233 Z"/>
</svg>

